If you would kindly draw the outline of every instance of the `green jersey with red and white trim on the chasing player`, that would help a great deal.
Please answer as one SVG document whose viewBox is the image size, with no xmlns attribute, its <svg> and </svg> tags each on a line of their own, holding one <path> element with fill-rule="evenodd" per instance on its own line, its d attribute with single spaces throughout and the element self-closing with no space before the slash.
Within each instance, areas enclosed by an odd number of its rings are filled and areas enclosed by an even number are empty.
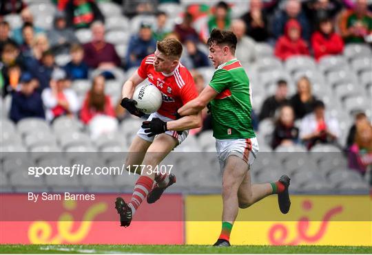
<svg viewBox="0 0 372 255">
<path fill-rule="evenodd" d="M 217 139 L 256 137 L 251 120 L 249 78 L 236 59 L 220 65 L 209 82 L 219 94 L 211 101 L 213 136 Z"/>
</svg>

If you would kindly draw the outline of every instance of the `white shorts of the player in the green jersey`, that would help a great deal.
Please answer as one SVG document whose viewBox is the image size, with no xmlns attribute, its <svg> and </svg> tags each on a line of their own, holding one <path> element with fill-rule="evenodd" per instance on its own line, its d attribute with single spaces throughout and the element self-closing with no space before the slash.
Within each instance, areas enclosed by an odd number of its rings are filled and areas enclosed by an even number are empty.
<svg viewBox="0 0 372 255">
<path fill-rule="evenodd" d="M 247 141 L 251 140 L 252 149 L 249 151 Z M 249 164 L 249 168 L 251 168 L 252 164 L 257 158 L 258 151 L 258 142 L 257 138 L 247 138 L 247 139 L 216 139 L 216 150 L 217 150 L 217 157 L 218 162 L 220 163 L 221 171 L 225 168 L 227 158 L 231 155 L 236 155 L 243 159 L 247 164 Z"/>
</svg>

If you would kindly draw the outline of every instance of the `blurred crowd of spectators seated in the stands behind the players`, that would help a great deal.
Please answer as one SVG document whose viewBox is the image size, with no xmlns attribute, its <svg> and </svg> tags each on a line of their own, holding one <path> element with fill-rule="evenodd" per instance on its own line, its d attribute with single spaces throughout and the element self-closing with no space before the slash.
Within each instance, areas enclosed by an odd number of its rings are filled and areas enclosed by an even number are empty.
<svg viewBox="0 0 372 255">
<path fill-rule="evenodd" d="M 34 16 L 23 1 L 0 4 L 1 93 L 12 97 L 9 117 L 14 122 L 28 117 L 52 122 L 61 115 L 79 116 L 84 124 L 97 115 L 125 118 L 125 112 L 117 108 L 118 102 L 111 102 L 104 92 L 106 80 L 113 78 L 111 70 L 138 67 L 145 56 L 154 52 L 156 41 L 167 37 L 183 43 L 182 62 L 192 70 L 211 67 L 200 45 L 214 27 L 234 31 L 238 38 L 236 55 L 247 67 L 258 58 L 257 43 L 269 43 L 280 60 L 306 55 L 318 61 L 323 56 L 342 54 L 347 43 L 371 44 L 372 37 L 372 5 L 366 0 L 247 1 L 248 11 L 240 19 L 231 19 L 231 4 L 220 1 L 205 11 L 207 19 L 198 29 L 194 24 L 200 13 L 193 11 L 195 8 L 186 8 L 179 14 L 180 23 L 170 26 L 168 14 L 156 10 L 156 1 L 116 0 L 129 19 L 143 13 L 156 17 L 154 23 L 143 21 L 138 32 L 131 34 L 127 53 L 120 57 L 115 45 L 105 38 L 105 16 L 96 1 L 52 2 L 57 12 L 52 29 L 46 31 L 34 24 Z M 7 14 L 19 14 L 21 27 L 10 30 L 4 19 Z M 92 32 L 91 40 L 79 42 L 76 32 L 87 28 Z M 60 54 L 70 54 L 70 62 L 57 65 L 55 58 Z M 96 69 L 103 71 L 91 77 Z M 208 80 L 198 71 L 193 74 L 202 89 Z M 71 82 L 88 78 L 92 78 L 92 87 L 79 102 L 70 89 Z M 296 93 L 289 95 L 287 80 L 278 80 L 274 95 L 252 117 L 256 123 L 275 120 L 271 147 L 299 142 L 307 148 L 318 142 L 337 144 L 338 122 L 311 93 L 309 78 L 301 77 L 296 82 Z M 207 111 L 203 112 L 203 128 L 192 133 L 210 129 L 208 116 Z M 371 124 L 367 119 L 361 122 L 362 117 L 366 119 L 363 114 L 357 116 L 347 143 L 354 155 L 371 153 Z M 353 159 L 358 169 L 364 169 L 368 161 L 362 156 Z"/>
</svg>

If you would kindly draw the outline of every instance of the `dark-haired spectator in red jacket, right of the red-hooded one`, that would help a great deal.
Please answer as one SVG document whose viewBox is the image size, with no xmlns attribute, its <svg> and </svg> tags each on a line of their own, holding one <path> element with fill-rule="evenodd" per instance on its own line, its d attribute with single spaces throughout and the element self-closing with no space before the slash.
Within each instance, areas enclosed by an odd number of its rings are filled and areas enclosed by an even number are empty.
<svg viewBox="0 0 372 255">
<path fill-rule="evenodd" d="M 316 60 L 326 55 L 342 54 L 344 41 L 334 32 L 331 19 L 325 18 L 319 22 L 318 30 L 311 36 L 311 46 Z"/>
</svg>

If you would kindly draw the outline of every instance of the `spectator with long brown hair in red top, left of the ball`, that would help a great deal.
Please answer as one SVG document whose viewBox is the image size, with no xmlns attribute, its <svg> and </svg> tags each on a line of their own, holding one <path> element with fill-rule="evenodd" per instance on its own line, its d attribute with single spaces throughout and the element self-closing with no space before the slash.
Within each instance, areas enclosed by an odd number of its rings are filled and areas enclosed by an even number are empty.
<svg viewBox="0 0 372 255">
<path fill-rule="evenodd" d="M 90 120 L 99 114 L 115 117 L 110 97 L 105 95 L 105 78 L 103 76 L 96 76 L 93 79 L 93 85 L 85 97 L 80 118 L 83 123 L 89 124 Z"/>
</svg>

